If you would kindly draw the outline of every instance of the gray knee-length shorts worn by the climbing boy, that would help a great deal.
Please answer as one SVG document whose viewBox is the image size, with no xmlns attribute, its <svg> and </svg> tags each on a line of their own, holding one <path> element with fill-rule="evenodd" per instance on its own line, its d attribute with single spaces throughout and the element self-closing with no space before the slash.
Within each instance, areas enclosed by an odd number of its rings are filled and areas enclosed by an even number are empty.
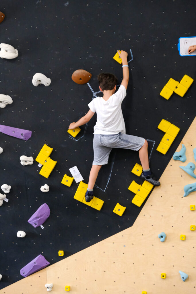
<svg viewBox="0 0 196 294">
<path fill-rule="evenodd" d="M 123 148 L 138 151 L 144 145 L 144 142 L 144 138 L 122 133 L 114 135 L 95 134 L 93 138 L 93 165 L 107 164 L 112 148 Z"/>
</svg>

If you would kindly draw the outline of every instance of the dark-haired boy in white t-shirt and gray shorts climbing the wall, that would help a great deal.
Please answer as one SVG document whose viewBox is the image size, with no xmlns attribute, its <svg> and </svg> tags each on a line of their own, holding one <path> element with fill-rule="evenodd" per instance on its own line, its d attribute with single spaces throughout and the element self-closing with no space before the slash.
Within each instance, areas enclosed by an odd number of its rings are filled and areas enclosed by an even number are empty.
<svg viewBox="0 0 196 294">
<path fill-rule="evenodd" d="M 93 187 L 95 185 L 99 170 L 103 164 L 108 163 L 112 148 L 124 148 L 139 151 L 140 161 L 143 167 L 141 175 L 146 181 L 155 186 L 160 182 L 151 173 L 148 161 L 148 142 L 144 138 L 125 134 L 125 122 L 121 109 L 121 103 L 126 96 L 129 81 L 129 68 L 127 52 L 118 51 L 123 64 L 123 80 L 118 91 L 115 93 L 117 78 L 113 74 L 101 73 L 98 75 L 99 89 L 103 97 L 94 98 L 89 104 L 90 110 L 76 123 L 70 124 L 69 129 L 79 127 L 97 113 L 97 122 L 94 126 L 93 151 L 94 160 L 90 171 L 86 202 L 93 199 Z"/>
</svg>

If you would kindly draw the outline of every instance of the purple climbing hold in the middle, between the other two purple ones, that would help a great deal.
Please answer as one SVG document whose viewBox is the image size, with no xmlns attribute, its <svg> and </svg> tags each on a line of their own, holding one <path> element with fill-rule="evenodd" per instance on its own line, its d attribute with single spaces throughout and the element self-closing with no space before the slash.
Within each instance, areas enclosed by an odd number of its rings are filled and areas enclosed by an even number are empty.
<svg viewBox="0 0 196 294">
<path fill-rule="evenodd" d="M 42 204 L 38 210 L 33 213 L 31 218 L 29 218 L 28 223 L 33 225 L 34 228 L 42 225 L 50 215 L 50 208 L 46 203 Z"/>
</svg>

